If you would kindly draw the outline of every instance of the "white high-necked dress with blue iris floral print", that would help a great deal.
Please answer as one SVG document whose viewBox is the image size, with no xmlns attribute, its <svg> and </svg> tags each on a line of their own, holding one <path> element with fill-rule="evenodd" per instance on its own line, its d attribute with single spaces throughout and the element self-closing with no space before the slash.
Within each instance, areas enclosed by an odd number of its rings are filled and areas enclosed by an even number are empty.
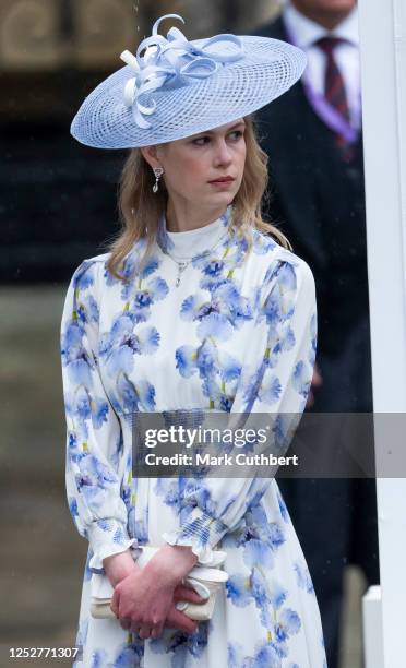
<svg viewBox="0 0 406 668">
<path fill-rule="evenodd" d="M 290 415 L 304 408 L 315 354 L 307 264 L 230 208 L 205 227 L 160 222 L 147 263 L 134 246 L 114 278 L 108 255 L 71 281 L 61 348 L 67 490 L 88 540 L 79 647 L 84 668 L 325 668 L 311 577 L 274 478 L 135 478 L 131 416 L 203 409 Z M 174 258 L 191 258 L 178 278 Z M 246 260 L 246 261 L 244 261 Z M 178 285 L 177 285 L 178 284 Z M 313 518 L 309 517 L 309 522 Z M 89 613 L 103 559 L 136 545 L 188 545 L 201 562 L 227 552 L 229 580 L 192 635 L 141 640 Z"/>
</svg>

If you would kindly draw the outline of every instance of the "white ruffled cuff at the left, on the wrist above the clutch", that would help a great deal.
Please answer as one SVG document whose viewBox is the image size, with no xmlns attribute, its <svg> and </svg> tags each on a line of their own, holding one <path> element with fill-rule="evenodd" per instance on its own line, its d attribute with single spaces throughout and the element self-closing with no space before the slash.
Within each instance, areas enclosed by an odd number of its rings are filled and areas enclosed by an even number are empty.
<svg viewBox="0 0 406 668">
<path fill-rule="evenodd" d="M 104 559 L 126 552 L 136 545 L 136 539 L 130 538 L 127 526 L 117 520 L 98 520 L 87 527 L 86 534 L 93 552 L 88 568 L 96 572 L 104 571 Z"/>
</svg>

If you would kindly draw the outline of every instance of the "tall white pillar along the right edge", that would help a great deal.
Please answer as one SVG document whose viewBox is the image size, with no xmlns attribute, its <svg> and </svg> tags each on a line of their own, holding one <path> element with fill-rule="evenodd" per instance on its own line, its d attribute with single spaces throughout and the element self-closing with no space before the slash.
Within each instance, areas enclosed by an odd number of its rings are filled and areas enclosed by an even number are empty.
<svg viewBox="0 0 406 668">
<path fill-rule="evenodd" d="M 378 414 L 406 413 L 406 3 L 359 0 L 359 12 L 373 403 Z M 377 424 L 379 476 L 389 458 Z M 406 454 L 406 434 L 397 445 Z M 378 479 L 378 517 L 383 666 L 403 668 L 406 479 Z"/>
</svg>

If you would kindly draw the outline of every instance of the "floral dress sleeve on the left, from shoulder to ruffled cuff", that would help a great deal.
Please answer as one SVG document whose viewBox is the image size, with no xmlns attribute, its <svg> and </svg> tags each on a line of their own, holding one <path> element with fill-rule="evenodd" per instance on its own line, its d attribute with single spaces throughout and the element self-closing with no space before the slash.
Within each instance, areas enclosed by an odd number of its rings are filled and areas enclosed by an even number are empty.
<svg viewBox="0 0 406 668">
<path fill-rule="evenodd" d="M 67 416 L 67 493 L 79 533 L 93 551 L 91 568 L 128 549 L 128 512 L 120 496 L 122 436 L 98 369 L 97 260 L 84 261 L 68 289 L 61 355 Z"/>
</svg>

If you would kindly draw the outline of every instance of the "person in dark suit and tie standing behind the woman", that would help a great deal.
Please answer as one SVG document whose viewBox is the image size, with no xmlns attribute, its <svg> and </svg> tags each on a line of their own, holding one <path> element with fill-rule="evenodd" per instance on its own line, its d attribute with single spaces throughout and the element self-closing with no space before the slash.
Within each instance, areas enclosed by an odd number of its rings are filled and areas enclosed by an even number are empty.
<svg viewBox="0 0 406 668">
<path fill-rule="evenodd" d="M 356 0 L 291 0 L 255 34 L 288 40 L 308 57 L 302 80 L 256 117 L 262 146 L 270 155 L 272 192 L 266 213 L 315 277 L 319 346 L 308 410 L 369 413 L 372 383 Z M 358 445 L 355 432 L 350 438 Z M 330 453 L 336 452 L 335 445 L 330 431 Z M 336 668 L 344 568 L 356 563 L 368 583 L 379 581 L 374 480 L 279 482 L 313 575 L 329 667 Z M 314 521 L 309 522 L 309 516 Z"/>
</svg>

